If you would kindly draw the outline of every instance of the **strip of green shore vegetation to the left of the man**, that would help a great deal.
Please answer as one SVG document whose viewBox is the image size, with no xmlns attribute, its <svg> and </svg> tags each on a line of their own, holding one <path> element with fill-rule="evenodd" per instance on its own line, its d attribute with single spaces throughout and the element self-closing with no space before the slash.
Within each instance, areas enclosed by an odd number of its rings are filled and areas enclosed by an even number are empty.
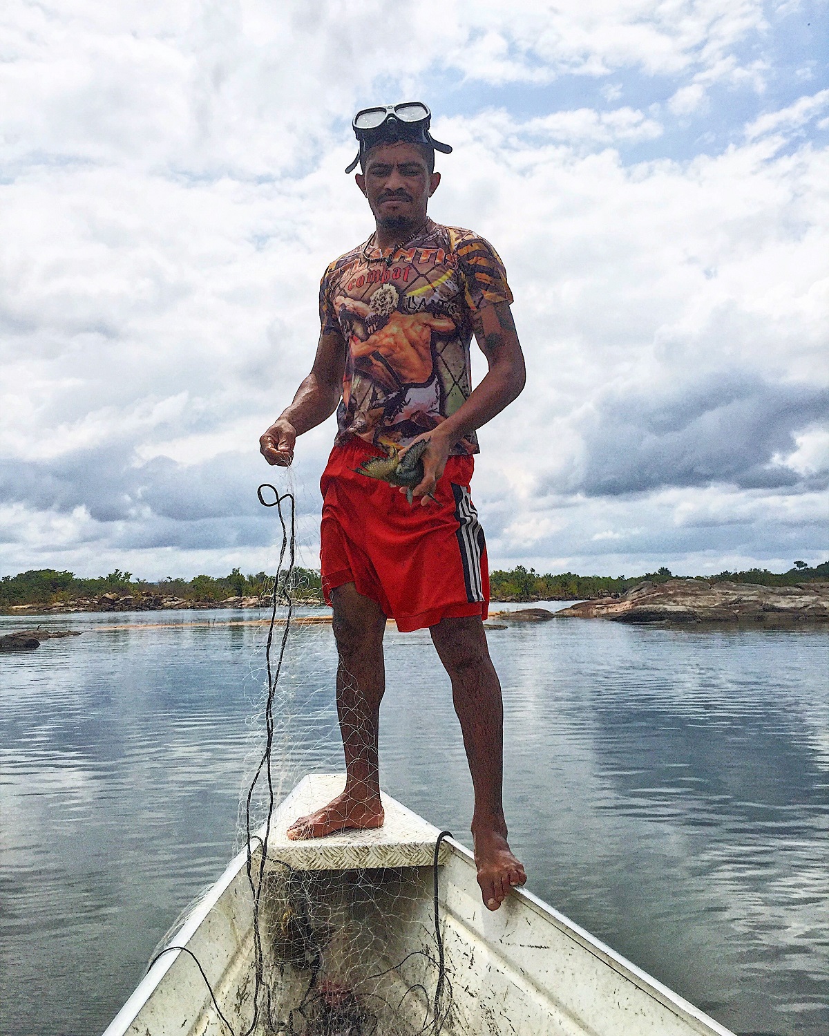
<svg viewBox="0 0 829 1036">
<path fill-rule="evenodd" d="M 298 597 L 320 596 L 320 575 L 313 569 L 295 568 L 292 585 Z M 243 575 L 234 569 L 228 576 L 196 576 L 175 579 L 168 576 L 159 582 L 134 579 L 131 572 L 116 569 L 108 576 L 83 579 L 71 572 L 37 569 L 0 579 L 0 608 L 21 604 L 69 604 L 72 601 L 96 601 L 103 594 L 123 597 L 143 594 L 177 597 L 184 601 L 204 603 L 224 601 L 229 597 L 260 597 L 270 594 L 273 578 L 265 572 Z"/>
</svg>

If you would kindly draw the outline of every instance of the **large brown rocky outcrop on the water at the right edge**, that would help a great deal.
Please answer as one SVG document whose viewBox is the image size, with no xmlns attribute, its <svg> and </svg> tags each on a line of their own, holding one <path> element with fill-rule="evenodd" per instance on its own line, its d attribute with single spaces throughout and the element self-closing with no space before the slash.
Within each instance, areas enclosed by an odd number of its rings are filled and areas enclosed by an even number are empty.
<svg viewBox="0 0 829 1036">
<path fill-rule="evenodd" d="M 829 583 L 758 586 L 753 583 L 669 579 L 643 582 L 619 597 L 583 601 L 558 618 L 617 623 L 745 623 L 765 626 L 829 622 Z"/>
</svg>

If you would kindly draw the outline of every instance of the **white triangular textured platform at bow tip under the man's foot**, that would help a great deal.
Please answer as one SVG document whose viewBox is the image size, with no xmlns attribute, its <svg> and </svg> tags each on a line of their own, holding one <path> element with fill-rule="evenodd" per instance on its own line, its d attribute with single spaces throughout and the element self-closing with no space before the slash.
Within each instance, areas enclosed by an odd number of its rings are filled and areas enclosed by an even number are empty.
<svg viewBox="0 0 829 1036">
<path fill-rule="evenodd" d="M 355 870 L 432 866 L 439 831 L 417 813 L 381 793 L 385 823 L 372 831 L 343 831 L 326 838 L 291 841 L 286 831 L 299 816 L 313 813 L 346 785 L 344 774 L 309 774 L 274 811 L 268 837 L 268 860 L 282 860 L 295 870 Z M 262 835 L 264 832 L 258 832 Z M 439 863 L 449 853 L 441 845 Z"/>
</svg>

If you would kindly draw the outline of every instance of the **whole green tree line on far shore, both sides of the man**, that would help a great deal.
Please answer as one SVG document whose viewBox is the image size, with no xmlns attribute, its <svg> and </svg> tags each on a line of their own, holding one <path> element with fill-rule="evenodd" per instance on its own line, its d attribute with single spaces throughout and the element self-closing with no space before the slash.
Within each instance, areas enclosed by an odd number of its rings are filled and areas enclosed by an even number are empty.
<svg viewBox="0 0 829 1036">
<path fill-rule="evenodd" d="M 644 580 L 664 582 L 675 578 L 667 568 L 639 576 L 580 576 L 573 572 L 539 574 L 535 569 L 516 565 L 514 569 L 498 569 L 490 576 L 494 601 L 575 601 L 624 594 Z M 691 577 L 688 577 L 691 578 Z M 791 586 L 811 579 L 829 579 L 829 562 L 809 568 L 805 562 L 795 562 L 788 572 L 748 569 L 742 572 L 719 572 L 704 576 L 712 582 L 744 582 L 762 586 Z M 135 579 L 131 572 L 116 569 L 107 576 L 87 579 L 71 572 L 36 569 L 0 579 L 0 608 L 20 605 L 69 604 L 80 600 L 94 601 L 105 594 L 119 596 L 158 595 L 183 601 L 209 603 L 229 598 L 263 597 L 272 593 L 273 578 L 265 572 L 244 575 L 233 569 L 227 576 L 199 575 L 193 579 L 169 576 L 157 582 Z M 322 600 L 320 573 L 314 569 L 295 568 L 291 580 L 295 598 Z"/>
</svg>

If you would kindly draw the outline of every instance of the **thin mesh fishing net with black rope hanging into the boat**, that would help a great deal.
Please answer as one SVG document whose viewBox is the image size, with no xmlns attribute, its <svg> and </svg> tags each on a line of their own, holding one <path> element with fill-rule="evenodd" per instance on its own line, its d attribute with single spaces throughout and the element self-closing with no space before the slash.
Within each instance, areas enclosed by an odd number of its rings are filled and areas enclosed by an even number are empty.
<svg viewBox="0 0 829 1036">
<path fill-rule="evenodd" d="M 284 854 L 273 848 L 274 811 L 297 782 L 309 772 L 345 775 L 334 702 L 337 662 L 341 681 L 353 678 L 337 659 L 330 612 L 297 604 L 307 599 L 309 587 L 291 472 L 280 490 L 265 485 L 259 495 L 276 515 L 282 535 L 269 616 L 259 628 L 249 663 L 249 682 L 260 693 L 251 708 L 240 797 L 242 866 L 231 889 L 238 946 L 233 961 L 217 967 L 209 945 L 198 939 L 187 943 L 189 971 L 182 974 L 191 988 L 200 984 L 204 998 L 200 989 L 198 1017 L 190 1014 L 184 1031 L 234 1036 L 474 1031 L 452 1009 L 453 976 L 443 945 L 438 859 L 448 832 L 435 838 L 428 865 L 419 866 L 307 868 L 280 859 Z M 181 951 L 185 928 L 166 940 L 150 967 Z"/>
</svg>

